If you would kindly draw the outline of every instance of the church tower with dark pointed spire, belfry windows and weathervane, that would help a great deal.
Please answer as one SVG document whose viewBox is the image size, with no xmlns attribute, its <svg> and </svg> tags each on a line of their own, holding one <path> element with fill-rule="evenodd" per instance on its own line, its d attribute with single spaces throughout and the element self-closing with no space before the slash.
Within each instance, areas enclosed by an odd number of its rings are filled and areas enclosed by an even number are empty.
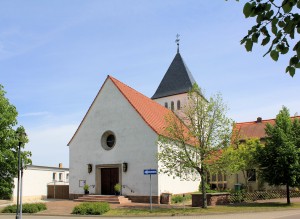
<svg viewBox="0 0 300 219">
<path fill-rule="evenodd" d="M 196 82 L 180 55 L 179 39 L 176 42 L 177 54 L 151 98 L 175 112 L 186 104 L 188 92 Z"/>
</svg>

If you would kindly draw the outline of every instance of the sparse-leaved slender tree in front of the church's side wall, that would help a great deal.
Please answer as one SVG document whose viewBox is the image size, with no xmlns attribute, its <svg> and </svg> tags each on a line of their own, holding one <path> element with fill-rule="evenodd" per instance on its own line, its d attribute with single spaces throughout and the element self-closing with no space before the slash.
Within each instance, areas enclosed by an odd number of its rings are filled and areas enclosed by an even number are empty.
<svg viewBox="0 0 300 219">
<path fill-rule="evenodd" d="M 176 117 L 166 118 L 165 135 L 160 136 L 160 171 L 182 179 L 201 178 L 203 208 L 207 207 L 206 175 L 210 158 L 230 141 L 231 120 L 225 115 L 226 105 L 221 95 L 207 101 L 195 84 L 188 102 Z M 180 120 L 179 120 L 180 119 Z"/>
</svg>

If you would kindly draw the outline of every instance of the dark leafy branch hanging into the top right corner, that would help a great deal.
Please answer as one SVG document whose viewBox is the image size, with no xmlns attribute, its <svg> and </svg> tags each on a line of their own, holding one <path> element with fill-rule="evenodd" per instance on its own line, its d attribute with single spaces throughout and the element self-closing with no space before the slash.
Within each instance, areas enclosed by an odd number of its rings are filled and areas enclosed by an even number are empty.
<svg viewBox="0 0 300 219">
<path fill-rule="evenodd" d="M 286 73 L 293 77 L 296 68 L 300 68 L 300 0 L 250 0 L 243 8 L 246 18 L 256 18 L 256 24 L 248 30 L 241 40 L 246 50 L 252 51 L 254 43 L 261 40 L 262 46 L 269 46 L 265 55 L 270 54 L 274 61 L 280 55 L 287 54 L 292 48 Z M 264 55 L 264 56 L 265 56 Z"/>
</svg>

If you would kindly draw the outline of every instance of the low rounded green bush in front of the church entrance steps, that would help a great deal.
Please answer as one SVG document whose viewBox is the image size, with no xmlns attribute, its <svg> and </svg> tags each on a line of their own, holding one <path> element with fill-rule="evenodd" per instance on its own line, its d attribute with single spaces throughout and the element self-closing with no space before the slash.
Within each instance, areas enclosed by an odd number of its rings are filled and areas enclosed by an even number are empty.
<svg viewBox="0 0 300 219">
<path fill-rule="evenodd" d="M 72 214 L 101 215 L 110 210 L 107 202 L 81 203 L 73 208 Z"/>
</svg>

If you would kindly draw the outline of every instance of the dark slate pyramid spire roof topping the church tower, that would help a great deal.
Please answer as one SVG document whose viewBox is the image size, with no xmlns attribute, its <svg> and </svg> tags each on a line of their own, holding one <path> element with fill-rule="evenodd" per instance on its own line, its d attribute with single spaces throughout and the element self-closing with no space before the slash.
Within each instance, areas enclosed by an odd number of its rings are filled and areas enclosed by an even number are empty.
<svg viewBox="0 0 300 219">
<path fill-rule="evenodd" d="M 191 90 L 194 83 L 195 79 L 185 65 L 179 51 L 177 51 L 152 99 L 187 93 Z"/>
</svg>

